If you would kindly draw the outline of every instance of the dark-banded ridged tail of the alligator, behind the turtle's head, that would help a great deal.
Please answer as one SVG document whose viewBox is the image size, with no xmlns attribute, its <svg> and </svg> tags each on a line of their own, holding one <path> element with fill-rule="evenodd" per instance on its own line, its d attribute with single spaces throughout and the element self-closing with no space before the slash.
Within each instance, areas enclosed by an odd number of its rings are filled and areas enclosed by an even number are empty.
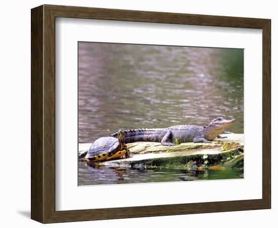
<svg viewBox="0 0 278 228">
<path fill-rule="evenodd" d="M 154 128 L 154 129 L 136 129 L 136 130 L 125 130 L 124 143 L 138 142 L 138 141 L 150 141 L 150 142 L 161 142 L 162 131 L 164 129 Z M 111 135 L 117 138 L 118 133 Z"/>
</svg>

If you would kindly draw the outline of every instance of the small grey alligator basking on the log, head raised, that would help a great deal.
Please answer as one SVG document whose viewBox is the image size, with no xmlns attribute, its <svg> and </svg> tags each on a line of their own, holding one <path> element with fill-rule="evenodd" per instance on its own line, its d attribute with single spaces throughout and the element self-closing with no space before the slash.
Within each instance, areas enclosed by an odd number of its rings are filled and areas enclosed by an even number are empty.
<svg viewBox="0 0 278 228">
<path fill-rule="evenodd" d="M 174 141 L 177 139 L 182 142 L 205 142 L 208 143 L 213 139 L 226 138 L 221 136 L 223 130 L 235 123 L 235 119 L 225 120 L 218 117 L 206 126 L 200 127 L 195 125 L 176 125 L 168 128 L 151 128 L 151 129 L 136 129 L 125 130 L 124 143 L 137 141 L 161 142 L 164 146 L 174 146 Z M 112 134 L 112 137 L 118 137 L 118 133 Z"/>
</svg>

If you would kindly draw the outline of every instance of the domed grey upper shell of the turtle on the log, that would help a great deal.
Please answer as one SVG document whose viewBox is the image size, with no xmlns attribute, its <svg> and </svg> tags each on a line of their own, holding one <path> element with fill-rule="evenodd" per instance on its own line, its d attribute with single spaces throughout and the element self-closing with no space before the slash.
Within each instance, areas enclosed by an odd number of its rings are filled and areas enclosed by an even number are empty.
<svg viewBox="0 0 278 228">
<path fill-rule="evenodd" d="M 97 139 L 90 146 L 85 159 L 89 159 L 95 156 L 106 156 L 108 153 L 117 149 L 119 146 L 119 140 L 114 137 L 101 137 Z"/>
</svg>

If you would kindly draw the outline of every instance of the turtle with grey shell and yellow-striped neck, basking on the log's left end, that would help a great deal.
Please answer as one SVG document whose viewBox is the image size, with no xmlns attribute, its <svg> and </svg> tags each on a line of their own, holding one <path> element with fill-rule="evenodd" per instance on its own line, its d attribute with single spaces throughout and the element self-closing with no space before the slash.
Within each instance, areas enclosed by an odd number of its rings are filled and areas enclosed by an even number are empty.
<svg viewBox="0 0 278 228">
<path fill-rule="evenodd" d="M 101 137 L 91 144 L 85 160 L 93 162 L 103 162 L 125 156 L 129 158 L 129 149 L 124 143 L 124 134 L 118 131 L 118 137 Z"/>
</svg>

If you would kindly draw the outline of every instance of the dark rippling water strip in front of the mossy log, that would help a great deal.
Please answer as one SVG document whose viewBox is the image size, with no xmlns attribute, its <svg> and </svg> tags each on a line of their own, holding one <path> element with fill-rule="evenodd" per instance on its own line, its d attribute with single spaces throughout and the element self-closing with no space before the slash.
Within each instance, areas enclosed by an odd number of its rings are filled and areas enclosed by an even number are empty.
<svg viewBox="0 0 278 228">
<path fill-rule="evenodd" d="M 242 169 L 184 170 L 165 168 L 122 168 L 79 162 L 79 185 L 146 183 L 243 178 Z"/>
</svg>

